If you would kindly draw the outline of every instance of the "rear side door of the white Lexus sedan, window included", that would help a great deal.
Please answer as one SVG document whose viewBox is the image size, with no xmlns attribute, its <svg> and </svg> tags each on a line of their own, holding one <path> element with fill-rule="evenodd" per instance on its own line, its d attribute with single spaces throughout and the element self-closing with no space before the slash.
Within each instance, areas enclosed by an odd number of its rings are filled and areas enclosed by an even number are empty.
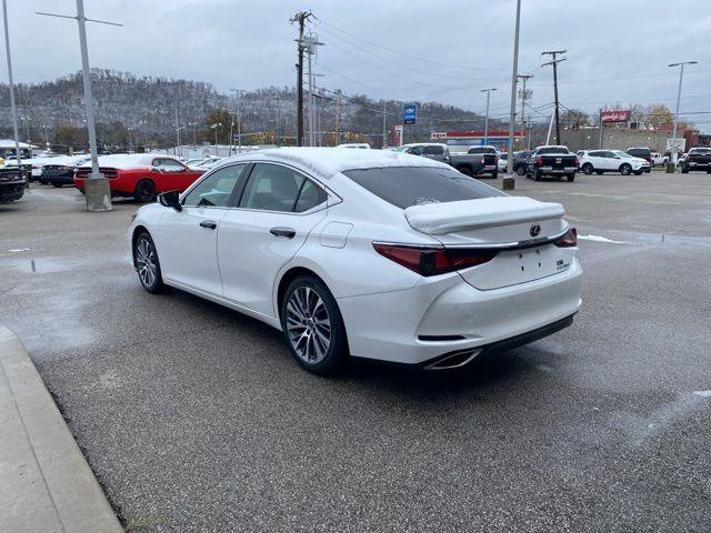
<svg viewBox="0 0 711 533">
<path fill-rule="evenodd" d="M 326 217 L 328 194 L 316 181 L 280 163 L 254 163 L 237 207 L 218 230 L 224 298 L 276 316 L 272 294 L 280 269 Z"/>
</svg>

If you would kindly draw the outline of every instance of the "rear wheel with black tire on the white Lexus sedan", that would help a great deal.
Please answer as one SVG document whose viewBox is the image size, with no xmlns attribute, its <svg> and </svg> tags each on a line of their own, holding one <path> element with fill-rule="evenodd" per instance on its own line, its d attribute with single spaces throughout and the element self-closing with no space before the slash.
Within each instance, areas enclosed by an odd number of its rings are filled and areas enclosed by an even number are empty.
<svg viewBox="0 0 711 533">
<path fill-rule="evenodd" d="M 279 306 L 287 345 L 301 368 L 320 375 L 336 372 L 348 356 L 348 339 L 338 303 L 326 284 L 301 275 L 289 283 Z M 327 334 L 330 336 L 324 348 Z"/>
</svg>

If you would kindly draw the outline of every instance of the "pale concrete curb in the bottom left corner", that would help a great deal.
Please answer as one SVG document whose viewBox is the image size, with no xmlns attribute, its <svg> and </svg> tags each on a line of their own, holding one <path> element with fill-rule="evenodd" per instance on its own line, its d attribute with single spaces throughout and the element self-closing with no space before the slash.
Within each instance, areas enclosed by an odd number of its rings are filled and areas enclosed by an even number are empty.
<svg viewBox="0 0 711 533">
<path fill-rule="evenodd" d="M 0 531 L 123 533 L 30 356 L 0 326 Z"/>
</svg>

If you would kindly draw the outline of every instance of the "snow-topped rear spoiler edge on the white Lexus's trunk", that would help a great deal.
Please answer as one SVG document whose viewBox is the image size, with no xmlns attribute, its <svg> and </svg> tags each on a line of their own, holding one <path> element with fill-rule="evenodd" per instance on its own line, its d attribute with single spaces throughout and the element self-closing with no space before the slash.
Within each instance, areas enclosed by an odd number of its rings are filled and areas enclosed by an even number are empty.
<svg viewBox="0 0 711 533">
<path fill-rule="evenodd" d="M 559 219 L 565 214 L 560 203 L 539 202 L 524 197 L 493 197 L 457 202 L 427 203 L 404 210 L 417 231 L 441 235 L 491 225 L 507 225 Z"/>
</svg>

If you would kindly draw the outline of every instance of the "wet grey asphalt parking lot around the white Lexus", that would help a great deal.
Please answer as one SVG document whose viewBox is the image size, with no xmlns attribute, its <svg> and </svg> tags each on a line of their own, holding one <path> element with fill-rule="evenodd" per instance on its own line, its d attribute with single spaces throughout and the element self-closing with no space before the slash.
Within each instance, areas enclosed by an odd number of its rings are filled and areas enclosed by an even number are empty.
<svg viewBox="0 0 711 533">
<path fill-rule="evenodd" d="M 572 328 L 467 371 L 310 375 L 129 264 L 137 205 L 0 205 L 14 330 L 130 531 L 711 530 L 711 177 L 517 180 L 579 230 Z"/>
</svg>

